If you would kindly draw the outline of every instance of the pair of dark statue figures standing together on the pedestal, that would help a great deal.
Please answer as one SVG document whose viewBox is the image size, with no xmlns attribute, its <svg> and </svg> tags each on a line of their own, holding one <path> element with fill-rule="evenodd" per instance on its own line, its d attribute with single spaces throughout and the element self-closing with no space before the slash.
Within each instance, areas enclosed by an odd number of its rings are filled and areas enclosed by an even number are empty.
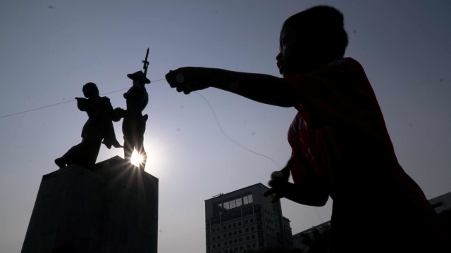
<svg viewBox="0 0 451 253">
<path fill-rule="evenodd" d="M 97 85 L 88 82 L 82 88 L 85 98 L 75 98 L 78 109 L 87 112 L 87 122 L 82 129 L 82 141 L 73 146 L 63 156 L 56 158 L 55 163 L 61 169 L 68 164 L 79 164 L 87 169 L 94 169 L 99 155 L 101 143 L 106 148 L 123 148 L 124 159 L 130 162 L 133 150 L 142 156 L 140 169 L 144 170 L 147 154 L 144 150 L 144 131 L 146 130 L 147 115 L 142 110 L 149 103 L 149 95 L 145 84 L 150 80 L 142 71 L 127 74 L 132 79 L 132 86 L 124 93 L 126 108 L 115 108 L 109 98 L 99 96 Z M 113 122 L 123 119 L 122 131 L 124 145 L 121 145 L 114 133 Z"/>
</svg>

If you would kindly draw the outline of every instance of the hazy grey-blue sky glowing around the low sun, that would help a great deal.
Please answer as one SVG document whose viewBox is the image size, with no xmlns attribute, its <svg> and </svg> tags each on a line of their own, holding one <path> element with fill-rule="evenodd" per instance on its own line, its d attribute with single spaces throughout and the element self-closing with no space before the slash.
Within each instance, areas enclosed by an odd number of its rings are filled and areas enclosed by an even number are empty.
<svg viewBox="0 0 451 253">
<path fill-rule="evenodd" d="M 151 80 L 185 65 L 279 76 L 278 35 L 290 15 L 316 4 L 345 14 L 346 56 L 364 66 L 404 170 L 426 197 L 451 191 L 451 1 L 1 1 L 0 116 L 128 89 L 150 48 Z M 266 184 L 290 157 L 294 108 L 225 91 L 185 96 L 147 86 L 146 171 L 159 178 L 159 252 L 204 252 L 204 200 Z M 123 92 L 110 93 L 125 107 Z M 20 252 L 42 175 L 80 143 L 75 102 L 0 117 L 0 252 Z M 123 143 L 121 122 L 114 124 Z M 123 150 L 102 145 L 97 161 Z M 364 168 L 362 168 L 364 169 Z M 330 219 L 325 207 L 282 200 L 292 233 Z M 358 206 L 355 207 L 359 209 Z M 362 210 L 364 212 L 364 210 Z"/>
</svg>

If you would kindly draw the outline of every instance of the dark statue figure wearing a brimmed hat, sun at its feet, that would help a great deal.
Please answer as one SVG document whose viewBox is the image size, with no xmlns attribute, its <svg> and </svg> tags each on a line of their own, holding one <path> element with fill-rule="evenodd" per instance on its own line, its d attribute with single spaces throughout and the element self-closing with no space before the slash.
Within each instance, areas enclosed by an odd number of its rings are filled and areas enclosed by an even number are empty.
<svg viewBox="0 0 451 253">
<path fill-rule="evenodd" d="M 119 117 L 123 117 L 122 131 L 124 134 L 124 159 L 129 160 L 132 157 L 133 149 L 142 157 L 140 169 L 144 170 L 147 161 L 147 154 L 144 150 L 144 131 L 146 131 L 147 115 L 142 115 L 142 110 L 149 103 L 149 95 L 145 84 L 150 84 L 142 71 L 127 74 L 132 79 L 132 87 L 124 93 L 127 108 L 116 108 L 115 111 Z"/>
</svg>

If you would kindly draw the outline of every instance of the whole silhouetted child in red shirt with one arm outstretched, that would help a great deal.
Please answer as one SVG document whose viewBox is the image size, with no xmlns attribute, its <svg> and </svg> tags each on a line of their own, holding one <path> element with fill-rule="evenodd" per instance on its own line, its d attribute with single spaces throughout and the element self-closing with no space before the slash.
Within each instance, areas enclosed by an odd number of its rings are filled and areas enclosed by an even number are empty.
<svg viewBox="0 0 451 253">
<path fill-rule="evenodd" d="M 283 24 L 276 57 L 283 78 L 182 67 L 166 79 L 179 92 L 211 86 L 297 109 L 292 157 L 265 195 L 311 206 L 330 196 L 330 252 L 451 252 L 438 214 L 397 162 L 364 69 L 343 58 L 347 42 L 342 13 L 315 6 Z"/>
</svg>

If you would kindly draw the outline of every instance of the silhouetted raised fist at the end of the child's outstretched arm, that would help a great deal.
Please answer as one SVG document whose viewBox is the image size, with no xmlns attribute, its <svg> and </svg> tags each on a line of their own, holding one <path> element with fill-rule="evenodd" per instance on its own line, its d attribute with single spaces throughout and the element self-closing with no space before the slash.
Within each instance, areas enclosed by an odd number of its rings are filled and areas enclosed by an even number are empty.
<svg viewBox="0 0 451 253">
<path fill-rule="evenodd" d="M 177 70 L 170 70 L 166 74 L 166 81 L 178 92 L 189 94 L 208 88 L 213 75 L 213 70 L 207 67 L 180 67 Z"/>
</svg>

